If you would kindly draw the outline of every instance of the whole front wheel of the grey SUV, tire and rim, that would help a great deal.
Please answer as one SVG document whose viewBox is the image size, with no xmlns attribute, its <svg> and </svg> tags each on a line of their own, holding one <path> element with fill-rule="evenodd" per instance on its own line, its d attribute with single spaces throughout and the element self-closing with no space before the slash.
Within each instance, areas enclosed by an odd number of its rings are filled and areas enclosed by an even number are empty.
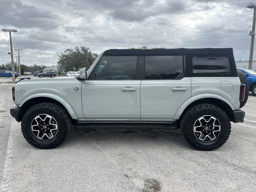
<svg viewBox="0 0 256 192">
<path fill-rule="evenodd" d="M 26 111 L 22 118 L 21 130 L 29 144 L 40 149 L 59 146 L 71 129 L 69 114 L 54 103 L 40 103 Z"/>
</svg>

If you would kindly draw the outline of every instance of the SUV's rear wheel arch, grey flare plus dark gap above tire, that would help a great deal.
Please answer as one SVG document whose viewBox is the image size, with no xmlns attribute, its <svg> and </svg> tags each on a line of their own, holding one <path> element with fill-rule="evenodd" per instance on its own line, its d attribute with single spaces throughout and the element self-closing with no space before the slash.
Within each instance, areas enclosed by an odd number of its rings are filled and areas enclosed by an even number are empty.
<svg viewBox="0 0 256 192">
<path fill-rule="evenodd" d="M 200 103 L 214 104 L 224 110 L 231 121 L 234 119 L 234 106 L 232 106 L 226 98 L 216 94 L 199 94 L 189 98 L 180 106 L 179 110 L 176 112 L 174 120 L 179 120 L 188 108 Z"/>
</svg>

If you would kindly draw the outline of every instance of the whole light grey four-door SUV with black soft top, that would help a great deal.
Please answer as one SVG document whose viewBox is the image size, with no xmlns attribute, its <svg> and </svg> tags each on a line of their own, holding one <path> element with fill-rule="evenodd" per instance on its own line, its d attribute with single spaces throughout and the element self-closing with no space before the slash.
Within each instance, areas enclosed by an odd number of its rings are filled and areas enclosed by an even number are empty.
<svg viewBox="0 0 256 192">
<path fill-rule="evenodd" d="M 76 78 L 24 79 L 12 90 L 10 114 L 42 149 L 60 145 L 74 126 L 180 128 L 192 147 L 215 150 L 230 122 L 245 116 L 232 48 L 110 49 Z"/>
</svg>

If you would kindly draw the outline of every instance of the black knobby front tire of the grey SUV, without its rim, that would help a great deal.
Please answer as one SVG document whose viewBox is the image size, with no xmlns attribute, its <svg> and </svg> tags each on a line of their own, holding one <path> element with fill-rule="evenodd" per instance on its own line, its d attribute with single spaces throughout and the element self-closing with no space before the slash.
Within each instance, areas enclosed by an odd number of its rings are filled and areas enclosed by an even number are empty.
<svg viewBox="0 0 256 192">
<path fill-rule="evenodd" d="M 50 140 L 40 140 L 32 133 L 32 120 L 39 114 L 49 114 L 58 124 L 58 131 Z M 21 122 L 21 130 L 24 138 L 29 144 L 40 149 L 52 149 L 59 146 L 66 140 L 71 127 L 71 119 L 66 110 L 59 105 L 48 102 L 36 104 L 29 108 L 24 114 Z"/>
</svg>

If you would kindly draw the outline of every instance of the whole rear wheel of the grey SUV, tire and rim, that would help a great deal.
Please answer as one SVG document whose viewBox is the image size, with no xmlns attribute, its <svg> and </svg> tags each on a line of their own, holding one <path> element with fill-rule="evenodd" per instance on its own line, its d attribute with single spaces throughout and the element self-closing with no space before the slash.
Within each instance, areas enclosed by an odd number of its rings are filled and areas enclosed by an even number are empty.
<svg viewBox="0 0 256 192">
<path fill-rule="evenodd" d="M 190 146 L 211 151 L 228 140 L 231 124 L 228 115 L 221 108 L 212 104 L 198 104 L 184 113 L 180 129 Z"/>
</svg>

